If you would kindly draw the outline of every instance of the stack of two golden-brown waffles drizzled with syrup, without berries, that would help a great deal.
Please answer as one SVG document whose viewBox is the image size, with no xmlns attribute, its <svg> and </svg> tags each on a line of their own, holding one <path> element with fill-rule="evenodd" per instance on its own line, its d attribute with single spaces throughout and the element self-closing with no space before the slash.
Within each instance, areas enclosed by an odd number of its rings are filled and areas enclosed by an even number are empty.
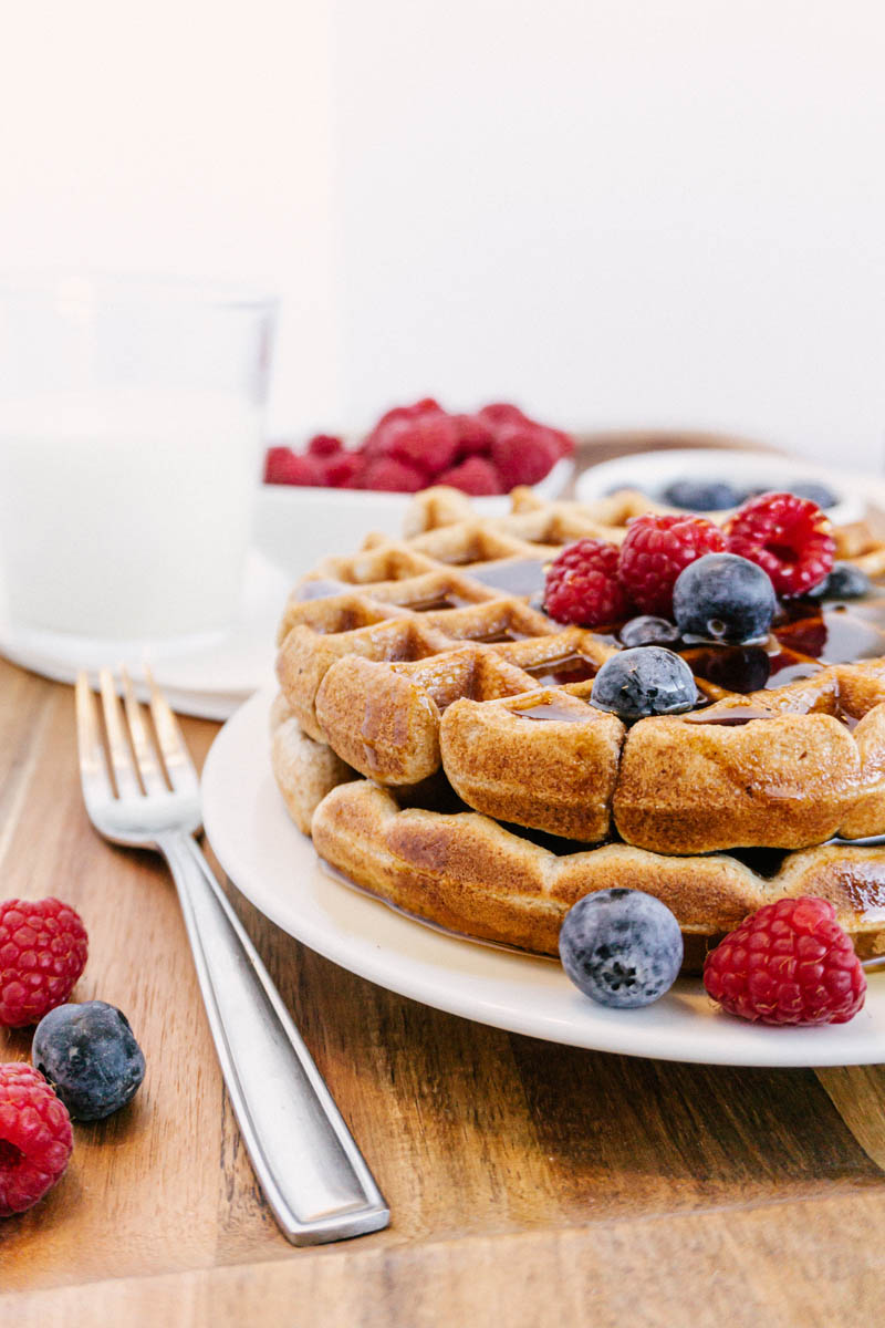
<svg viewBox="0 0 885 1328">
<path fill-rule="evenodd" d="M 516 490 L 512 506 L 479 519 L 429 490 L 405 538 L 370 537 L 293 591 L 273 768 L 320 854 L 422 918 L 541 952 L 613 884 L 705 943 L 771 898 L 823 894 L 860 950 L 885 950 L 885 853 L 847 842 L 885 831 L 885 588 L 797 602 L 764 648 L 683 651 L 709 704 L 628 730 L 589 705 L 616 637 L 551 623 L 539 594 L 564 543 L 620 543 L 653 505 Z M 865 526 L 836 534 L 839 556 L 885 572 Z"/>
</svg>

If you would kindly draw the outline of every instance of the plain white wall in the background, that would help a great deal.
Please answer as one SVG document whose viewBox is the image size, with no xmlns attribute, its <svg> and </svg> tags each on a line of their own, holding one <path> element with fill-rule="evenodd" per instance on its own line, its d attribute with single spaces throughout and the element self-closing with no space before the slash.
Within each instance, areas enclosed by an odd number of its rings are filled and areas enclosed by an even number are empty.
<svg viewBox="0 0 885 1328">
<path fill-rule="evenodd" d="M 269 279 L 275 430 L 504 396 L 882 469 L 878 0 L 0 12 L 0 266 Z"/>
</svg>

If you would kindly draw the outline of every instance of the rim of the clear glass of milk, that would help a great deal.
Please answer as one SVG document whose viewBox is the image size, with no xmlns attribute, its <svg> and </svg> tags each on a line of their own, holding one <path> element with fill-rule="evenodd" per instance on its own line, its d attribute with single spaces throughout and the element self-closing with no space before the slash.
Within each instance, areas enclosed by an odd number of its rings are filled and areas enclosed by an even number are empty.
<svg viewBox="0 0 885 1328">
<path fill-rule="evenodd" d="M 0 301 L 56 296 L 96 304 L 190 304 L 273 312 L 280 296 L 269 283 L 163 272 L 118 272 L 85 266 L 0 270 Z"/>
</svg>

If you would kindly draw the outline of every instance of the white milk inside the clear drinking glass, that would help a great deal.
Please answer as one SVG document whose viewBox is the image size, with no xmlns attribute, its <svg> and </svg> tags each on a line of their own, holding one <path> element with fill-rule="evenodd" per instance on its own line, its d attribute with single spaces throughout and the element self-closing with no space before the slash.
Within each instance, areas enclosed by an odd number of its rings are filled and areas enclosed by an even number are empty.
<svg viewBox="0 0 885 1328">
<path fill-rule="evenodd" d="M 0 582 L 12 623 L 162 640 L 231 623 L 260 410 L 222 394 L 0 402 Z"/>
</svg>

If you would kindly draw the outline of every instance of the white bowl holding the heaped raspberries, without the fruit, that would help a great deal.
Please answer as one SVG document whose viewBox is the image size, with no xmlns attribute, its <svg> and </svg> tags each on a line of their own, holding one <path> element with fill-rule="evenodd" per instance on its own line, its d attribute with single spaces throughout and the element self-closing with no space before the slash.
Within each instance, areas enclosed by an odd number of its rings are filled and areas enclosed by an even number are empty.
<svg viewBox="0 0 885 1328">
<path fill-rule="evenodd" d="M 563 457 L 533 486 L 541 498 L 556 498 L 572 478 L 575 462 Z M 366 535 L 382 531 L 401 535 L 402 522 L 414 494 L 379 493 L 372 489 L 310 489 L 300 485 L 261 485 L 253 527 L 257 548 L 291 576 L 309 572 L 328 554 L 356 552 Z M 483 517 L 510 511 L 506 494 L 474 498 Z"/>
</svg>

